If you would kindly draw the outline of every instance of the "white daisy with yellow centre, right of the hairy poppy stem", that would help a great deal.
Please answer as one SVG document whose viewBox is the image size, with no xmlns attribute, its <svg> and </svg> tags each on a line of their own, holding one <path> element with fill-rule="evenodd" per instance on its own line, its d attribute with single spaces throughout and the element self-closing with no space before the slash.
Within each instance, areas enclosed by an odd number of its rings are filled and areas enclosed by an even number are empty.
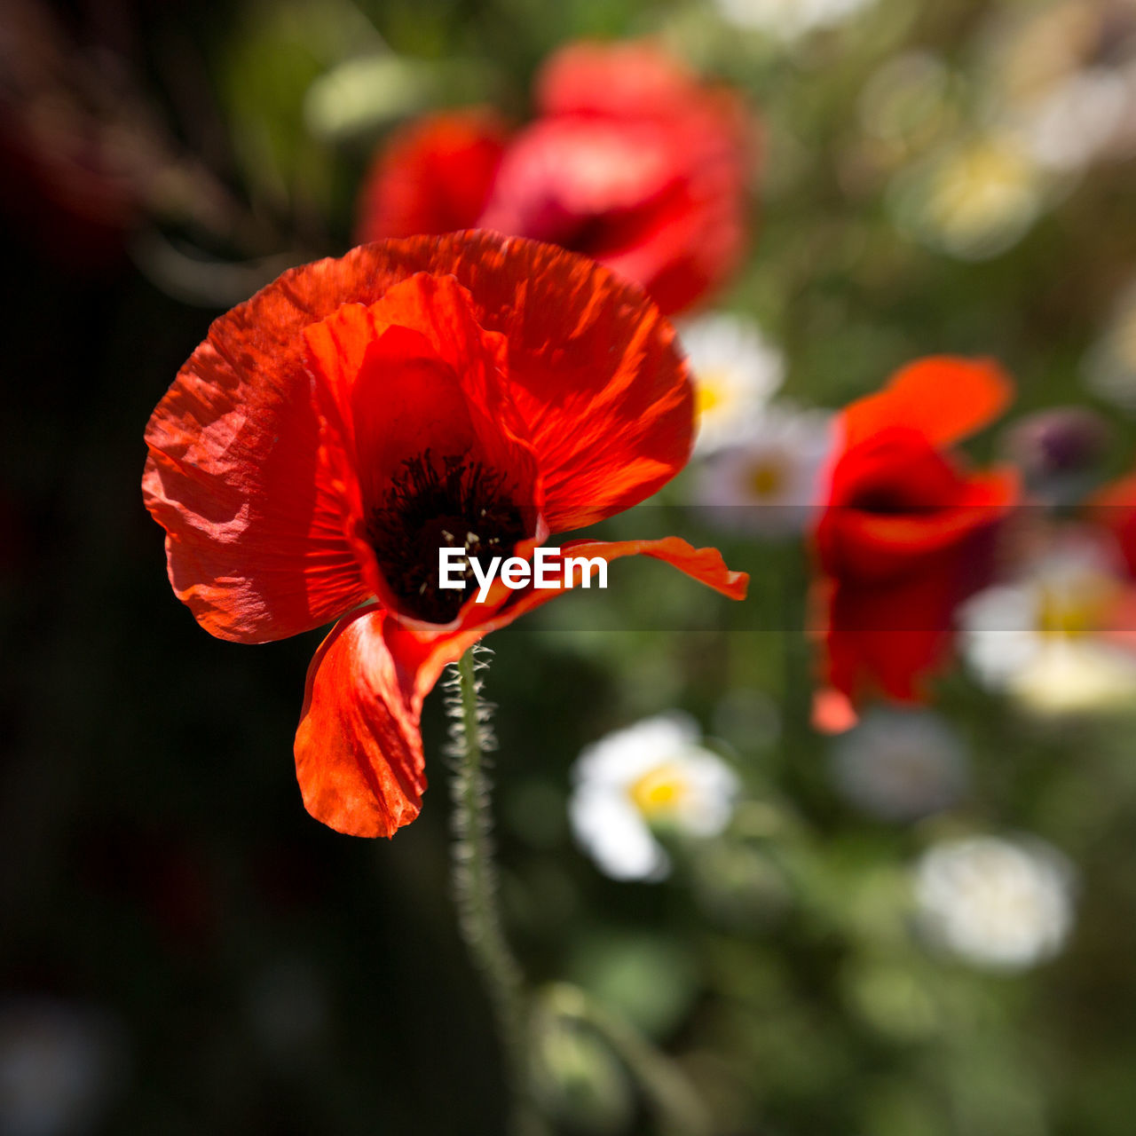
<svg viewBox="0 0 1136 1136">
<path fill-rule="evenodd" d="M 652 828 L 716 836 L 738 780 L 699 744 L 685 715 L 648 718 L 587 746 L 573 770 L 568 811 L 576 840 L 613 879 L 665 878 L 670 859 Z"/>
</svg>

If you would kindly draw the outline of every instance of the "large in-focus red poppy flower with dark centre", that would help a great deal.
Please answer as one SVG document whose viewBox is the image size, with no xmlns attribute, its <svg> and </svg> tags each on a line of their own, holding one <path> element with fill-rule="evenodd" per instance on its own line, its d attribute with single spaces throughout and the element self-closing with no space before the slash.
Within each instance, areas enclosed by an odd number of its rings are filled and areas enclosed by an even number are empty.
<svg viewBox="0 0 1136 1136">
<path fill-rule="evenodd" d="M 420 807 L 442 669 L 559 594 L 441 591 L 438 549 L 527 556 L 626 509 L 683 466 L 692 427 L 671 328 L 605 269 L 485 233 L 390 241 L 212 325 L 150 419 L 143 493 L 207 630 L 258 643 L 344 617 L 308 673 L 296 771 L 312 816 L 389 836 Z M 745 591 L 675 537 L 561 551 Z"/>
</svg>

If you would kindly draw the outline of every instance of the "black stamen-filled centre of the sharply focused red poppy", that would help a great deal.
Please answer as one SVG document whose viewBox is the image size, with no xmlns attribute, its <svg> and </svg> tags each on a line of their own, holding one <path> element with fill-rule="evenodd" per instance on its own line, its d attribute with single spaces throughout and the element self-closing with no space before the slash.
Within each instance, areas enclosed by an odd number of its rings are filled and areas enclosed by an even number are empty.
<svg viewBox="0 0 1136 1136">
<path fill-rule="evenodd" d="M 463 549 L 485 569 L 493 557 L 512 556 L 528 534 L 511 492 L 504 474 L 460 456 L 438 462 L 427 450 L 402 462 L 382 504 L 371 510 L 367 536 L 404 611 L 448 624 L 469 599 L 471 568 L 463 591 L 438 587 L 440 549 Z"/>
</svg>

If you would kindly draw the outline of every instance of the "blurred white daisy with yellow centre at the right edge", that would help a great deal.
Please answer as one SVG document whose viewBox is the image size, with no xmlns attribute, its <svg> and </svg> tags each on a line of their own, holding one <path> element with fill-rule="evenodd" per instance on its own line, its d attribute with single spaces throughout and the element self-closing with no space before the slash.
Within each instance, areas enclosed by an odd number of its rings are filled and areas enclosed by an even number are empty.
<svg viewBox="0 0 1136 1136">
<path fill-rule="evenodd" d="M 1074 534 L 1027 576 L 962 605 L 963 657 L 986 686 L 1036 713 L 1129 707 L 1136 654 L 1104 634 L 1124 587 L 1105 548 Z"/>
</svg>

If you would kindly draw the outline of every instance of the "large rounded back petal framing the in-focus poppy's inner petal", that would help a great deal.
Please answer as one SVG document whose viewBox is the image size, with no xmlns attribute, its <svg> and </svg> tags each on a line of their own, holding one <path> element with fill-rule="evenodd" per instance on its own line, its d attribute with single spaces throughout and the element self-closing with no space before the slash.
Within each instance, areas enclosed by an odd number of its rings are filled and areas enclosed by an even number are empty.
<svg viewBox="0 0 1136 1136">
<path fill-rule="evenodd" d="M 685 465 L 693 395 L 674 332 L 585 258 L 459 233 L 303 265 L 214 323 L 147 428 L 143 495 L 168 534 L 170 582 L 212 634 L 283 638 L 371 594 L 321 459 L 302 331 L 420 272 L 457 277 L 478 326 L 506 337 L 553 531 L 629 508 Z"/>
</svg>

